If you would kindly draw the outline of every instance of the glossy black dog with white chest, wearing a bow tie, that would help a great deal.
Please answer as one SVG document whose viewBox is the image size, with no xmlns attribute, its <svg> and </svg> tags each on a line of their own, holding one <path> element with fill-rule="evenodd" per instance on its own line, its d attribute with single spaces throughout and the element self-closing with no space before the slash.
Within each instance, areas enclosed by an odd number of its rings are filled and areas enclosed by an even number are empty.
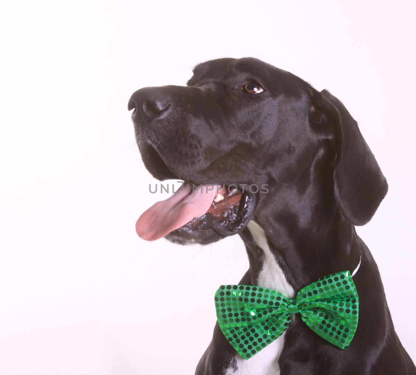
<svg viewBox="0 0 416 375">
<path fill-rule="evenodd" d="M 217 323 L 196 374 L 416 374 L 354 228 L 374 215 L 386 179 L 337 98 L 257 59 L 218 59 L 197 65 L 186 87 L 136 91 L 133 108 L 144 164 L 157 179 L 269 190 L 225 188 L 209 209 L 194 193 L 157 203 L 138 222 L 143 238 L 169 233 L 175 242 L 206 244 L 239 233 L 250 260 L 240 284 L 290 298 L 320 277 L 357 271 L 359 324 L 348 349 L 295 314 L 282 336 L 245 360 Z"/>
</svg>

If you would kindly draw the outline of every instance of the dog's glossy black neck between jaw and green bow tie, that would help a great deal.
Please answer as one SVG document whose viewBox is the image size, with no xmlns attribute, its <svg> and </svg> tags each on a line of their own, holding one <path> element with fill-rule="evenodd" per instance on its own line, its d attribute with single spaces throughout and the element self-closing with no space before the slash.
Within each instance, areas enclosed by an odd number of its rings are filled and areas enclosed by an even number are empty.
<svg viewBox="0 0 416 375">
<path fill-rule="evenodd" d="M 254 223 L 241 232 L 253 284 L 264 268 L 267 249 L 295 290 L 320 277 L 346 270 L 352 273 L 357 268 L 360 243 L 354 226 L 339 211 L 329 183 L 332 171 L 322 168 L 328 164 L 321 156 L 309 167 L 307 180 L 300 171 L 292 184 L 280 184 L 274 193 L 265 194 Z"/>
</svg>

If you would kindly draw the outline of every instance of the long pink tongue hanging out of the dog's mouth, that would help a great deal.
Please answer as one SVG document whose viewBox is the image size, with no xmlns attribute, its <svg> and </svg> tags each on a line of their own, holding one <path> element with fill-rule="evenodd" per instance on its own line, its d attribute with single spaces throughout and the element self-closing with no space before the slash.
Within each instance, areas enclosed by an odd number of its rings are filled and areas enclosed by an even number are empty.
<svg viewBox="0 0 416 375">
<path fill-rule="evenodd" d="M 192 186 L 183 185 L 170 198 L 155 203 L 144 211 L 136 223 L 136 232 L 144 240 L 153 241 L 181 228 L 194 218 L 203 216 L 211 206 L 217 189 L 207 191 L 206 185 L 192 191 Z M 211 189 L 213 186 L 209 186 Z"/>
</svg>

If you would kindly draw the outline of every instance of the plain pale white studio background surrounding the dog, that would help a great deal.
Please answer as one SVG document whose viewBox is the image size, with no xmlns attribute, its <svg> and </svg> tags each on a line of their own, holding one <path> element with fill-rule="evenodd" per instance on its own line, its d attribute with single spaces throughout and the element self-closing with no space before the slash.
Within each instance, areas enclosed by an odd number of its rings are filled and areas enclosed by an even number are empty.
<svg viewBox="0 0 416 375">
<path fill-rule="evenodd" d="M 127 101 L 197 62 L 256 56 L 329 89 L 389 181 L 357 232 L 416 359 L 413 2 L 37 1 L 2 7 L 0 374 L 193 374 L 213 294 L 248 268 L 235 236 L 146 243 L 156 200 Z M 184 284 L 187 314 L 172 309 Z M 163 339 L 161 340 L 161 334 Z"/>
</svg>

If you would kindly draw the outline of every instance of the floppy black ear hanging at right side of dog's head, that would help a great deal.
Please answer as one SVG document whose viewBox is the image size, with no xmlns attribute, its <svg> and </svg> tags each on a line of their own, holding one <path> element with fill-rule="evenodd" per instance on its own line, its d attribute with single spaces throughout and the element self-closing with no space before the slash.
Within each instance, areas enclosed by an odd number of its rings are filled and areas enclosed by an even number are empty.
<svg viewBox="0 0 416 375">
<path fill-rule="evenodd" d="M 337 157 L 334 195 L 342 215 L 353 225 L 370 221 L 387 193 L 386 178 L 347 108 L 326 90 L 315 91 L 310 107 L 315 129 L 331 129 Z"/>
</svg>

